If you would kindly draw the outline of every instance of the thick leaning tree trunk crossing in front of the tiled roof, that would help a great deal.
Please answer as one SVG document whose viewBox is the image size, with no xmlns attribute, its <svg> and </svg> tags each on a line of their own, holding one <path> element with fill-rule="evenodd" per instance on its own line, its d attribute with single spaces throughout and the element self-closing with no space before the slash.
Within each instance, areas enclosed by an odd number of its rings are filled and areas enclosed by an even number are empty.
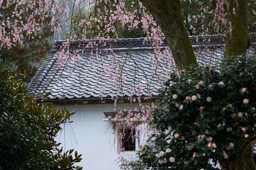
<svg viewBox="0 0 256 170">
<path fill-rule="evenodd" d="M 180 0 L 140 1 L 161 27 L 178 70 L 182 66 L 191 64 L 198 66 L 191 40 L 183 22 Z"/>
</svg>

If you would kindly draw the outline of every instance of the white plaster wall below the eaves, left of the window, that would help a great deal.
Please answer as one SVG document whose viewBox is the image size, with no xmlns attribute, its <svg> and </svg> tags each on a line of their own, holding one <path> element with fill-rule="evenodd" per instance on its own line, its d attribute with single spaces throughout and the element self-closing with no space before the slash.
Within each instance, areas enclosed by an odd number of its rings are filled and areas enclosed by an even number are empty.
<svg viewBox="0 0 256 170">
<path fill-rule="evenodd" d="M 63 109 L 64 106 L 55 106 Z M 110 122 L 103 121 L 103 112 L 113 112 L 112 104 L 95 105 L 65 105 L 67 110 L 75 110 L 71 116 L 71 126 L 65 125 L 65 131 L 57 136 L 63 150 L 74 148 L 78 154 L 82 154 L 82 161 L 76 165 L 86 169 L 120 169 L 118 168 L 118 157 L 135 157 L 135 154 L 118 155 L 117 147 L 114 150 L 114 135 L 111 132 Z M 74 132 L 74 135 L 72 134 Z M 77 143 L 76 143 L 77 141 Z M 117 146 L 117 144 L 116 144 Z M 133 153 L 136 153 L 135 151 Z"/>
</svg>

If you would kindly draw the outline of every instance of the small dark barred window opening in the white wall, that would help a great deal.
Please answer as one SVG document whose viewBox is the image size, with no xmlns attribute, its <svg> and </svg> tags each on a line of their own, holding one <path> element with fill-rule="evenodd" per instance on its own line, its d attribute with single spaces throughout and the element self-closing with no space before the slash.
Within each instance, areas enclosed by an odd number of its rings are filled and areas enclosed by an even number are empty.
<svg viewBox="0 0 256 170">
<path fill-rule="evenodd" d="M 125 131 L 125 137 L 123 141 L 124 150 L 135 151 L 135 146 L 136 146 L 135 138 L 134 138 L 134 141 L 132 139 L 132 137 L 135 136 L 135 130 L 133 130 L 133 132 L 131 129 L 125 129 L 123 131 Z"/>
</svg>

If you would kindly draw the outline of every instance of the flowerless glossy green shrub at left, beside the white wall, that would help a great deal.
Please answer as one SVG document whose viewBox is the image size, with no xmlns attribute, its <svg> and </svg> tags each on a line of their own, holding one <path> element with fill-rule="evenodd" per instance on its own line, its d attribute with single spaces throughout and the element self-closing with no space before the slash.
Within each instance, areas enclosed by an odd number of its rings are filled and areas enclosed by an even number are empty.
<svg viewBox="0 0 256 170">
<path fill-rule="evenodd" d="M 74 112 L 46 106 L 48 94 L 42 100 L 26 96 L 23 81 L 15 79 L 17 71 L 0 60 L 0 169 L 82 169 L 74 166 L 81 155 L 75 151 L 74 158 L 73 150 L 62 154 L 55 141 L 60 125 L 68 123 Z M 27 80 L 26 71 L 24 76 Z"/>
</svg>

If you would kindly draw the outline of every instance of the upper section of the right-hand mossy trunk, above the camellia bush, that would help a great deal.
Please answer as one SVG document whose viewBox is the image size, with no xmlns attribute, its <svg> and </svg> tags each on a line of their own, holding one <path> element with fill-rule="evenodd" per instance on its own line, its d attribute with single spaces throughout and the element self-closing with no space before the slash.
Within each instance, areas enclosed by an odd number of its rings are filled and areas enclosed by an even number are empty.
<svg viewBox="0 0 256 170">
<path fill-rule="evenodd" d="M 236 9 L 236 14 L 233 14 L 233 9 Z M 232 30 L 227 33 L 224 57 L 246 53 L 246 49 L 251 44 L 251 37 L 248 32 L 246 0 L 228 0 L 227 19 L 228 22 L 231 21 Z"/>
</svg>

